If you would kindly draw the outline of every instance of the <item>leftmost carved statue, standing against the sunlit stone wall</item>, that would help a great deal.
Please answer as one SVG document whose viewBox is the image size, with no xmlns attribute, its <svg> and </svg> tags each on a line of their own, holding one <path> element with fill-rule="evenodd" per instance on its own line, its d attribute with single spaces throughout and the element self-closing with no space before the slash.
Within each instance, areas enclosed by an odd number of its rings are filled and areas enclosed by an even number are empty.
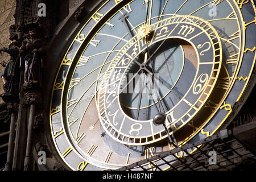
<svg viewBox="0 0 256 182">
<path fill-rule="evenodd" d="M 3 90 L 5 93 L 1 94 L 3 101 L 9 102 L 18 99 L 19 92 L 19 47 L 18 42 L 13 40 L 9 43 L 8 48 L 0 48 L 0 53 L 9 53 L 10 59 L 7 61 L 5 70 L 2 73 Z"/>
</svg>

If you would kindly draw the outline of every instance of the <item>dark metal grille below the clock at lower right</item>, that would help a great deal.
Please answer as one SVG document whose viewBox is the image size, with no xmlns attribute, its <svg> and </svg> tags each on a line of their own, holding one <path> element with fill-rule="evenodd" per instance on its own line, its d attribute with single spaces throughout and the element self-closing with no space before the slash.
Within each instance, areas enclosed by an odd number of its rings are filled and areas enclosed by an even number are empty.
<svg viewBox="0 0 256 182">
<path fill-rule="evenodd" d="M 188 152 L 194 151 L 194 152 Z M 177 154 L 183 155 L 177 155 Z M 214 161 L 214 156 L 216 160 Z M 206 171 L 230 169 L 243 159 L 254 159 L 255 154 L 232 135 L 232 130 L 222 130 L 220 134 L 200 140 L 171 151 L 162 152 L 141 160 L 118 171 Z"/>
</svg>

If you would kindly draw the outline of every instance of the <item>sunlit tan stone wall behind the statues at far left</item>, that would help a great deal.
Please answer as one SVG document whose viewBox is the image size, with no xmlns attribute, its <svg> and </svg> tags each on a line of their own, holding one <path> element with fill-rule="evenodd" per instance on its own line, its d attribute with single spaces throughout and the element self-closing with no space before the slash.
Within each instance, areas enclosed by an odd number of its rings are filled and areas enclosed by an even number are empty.
<svg viewBox="0 0 256 182">
<path fill-rule="evenodd" d="M 16 8 L 15 0 L 0 0 L 0 47 L 8 47 L 9 40 L 9 27 L 14 24 L 14 14 Z M 3 65 L 9 59 L 9 55 L 5 52 L 0 54 L 0 73 L 2 75 Z M 0 80 L 0 93 L 3 93 L 3 82 Z M 0 98 L 0 103 L 2 99 Z"/>
</svg>

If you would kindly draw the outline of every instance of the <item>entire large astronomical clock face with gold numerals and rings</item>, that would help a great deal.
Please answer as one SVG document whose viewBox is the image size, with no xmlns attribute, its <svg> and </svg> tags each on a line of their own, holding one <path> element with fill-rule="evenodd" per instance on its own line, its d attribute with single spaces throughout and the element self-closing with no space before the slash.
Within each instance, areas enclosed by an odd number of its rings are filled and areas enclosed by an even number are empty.
<svg viewBox="0 0 256 182">
<path fill-rule="evenodd" d="M 61 159 L 117 169 L 216 133 L 254 68 L 255 12 L 253 1 L 102 2 L 55 78 L 49 118 Z"/>
</svg>

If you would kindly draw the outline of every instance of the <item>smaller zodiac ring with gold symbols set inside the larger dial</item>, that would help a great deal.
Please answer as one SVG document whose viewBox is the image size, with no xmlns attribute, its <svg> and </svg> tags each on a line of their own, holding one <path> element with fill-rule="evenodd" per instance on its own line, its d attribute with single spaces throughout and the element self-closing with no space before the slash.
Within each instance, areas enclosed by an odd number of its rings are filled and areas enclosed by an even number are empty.
<svg viewBox="0 0 256 182">
<path fill-rule="evenodd" d="M 137 33 L 126 43 L 110 63 L 98 91 L 97 108 L 102 127 L 112 138 L 125 144 L 150 144 L 166 138 L 164 127 L 154 126 L 151 119 L 158 113 L 167 115 L 167 129 L 176 127 L 178 130 L 185 126 L 204 106 L 202 103 L 212 92 L 221 68 L 221 41 L 208 22 L 195 16 L 173 15 L 148 27 L 154 35 L 141 38 Z M 176 73 L 161 72 L 153 67 L 153 64 L 160 68 L 174 66 L 166 59 L 156 57 L 153 62 L 150 58 L 155 55 L 155 48 L 161 48 L 163 43 L 170 47 L 170 39 L 181 39 L 180 44 L 191 45 L 196 50 L 195 68 L 191 61 L 183 58 L 176 60 Z M 175 86 L 170 86 L 172 80 Z M 127 96 L 129 94 L 132 96 Z M 127 102 L 129 105 L 135 102 L 135 106 L 124 109 Z"/>
</svg>

